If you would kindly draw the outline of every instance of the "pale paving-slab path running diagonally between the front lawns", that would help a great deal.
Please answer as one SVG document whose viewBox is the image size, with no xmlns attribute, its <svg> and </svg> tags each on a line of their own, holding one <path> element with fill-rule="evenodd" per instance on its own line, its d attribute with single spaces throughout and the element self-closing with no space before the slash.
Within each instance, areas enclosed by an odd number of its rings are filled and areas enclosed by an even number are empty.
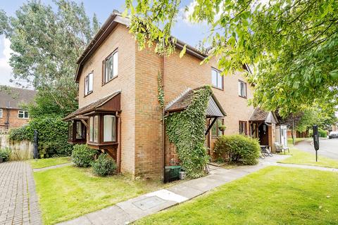
<svg viewBox="0 0 338 225">
<path fill-rule="evenodd" d="M 173 205 L 195 198 L 227 182 L 239 179 L 263 167 L 277 164 L 277 161 L 290 155 L 274 155 L 261 160 L 258 165 L 223 169 L 211 166 L 208 176 L 171 186 L 152 193 L 132 198 L 103 210 L 85 214 L 82 217 L 65 221 L 62 225 L 89 224 L 128 224 L 149 214 L 154 214 Z"/>
</svg>

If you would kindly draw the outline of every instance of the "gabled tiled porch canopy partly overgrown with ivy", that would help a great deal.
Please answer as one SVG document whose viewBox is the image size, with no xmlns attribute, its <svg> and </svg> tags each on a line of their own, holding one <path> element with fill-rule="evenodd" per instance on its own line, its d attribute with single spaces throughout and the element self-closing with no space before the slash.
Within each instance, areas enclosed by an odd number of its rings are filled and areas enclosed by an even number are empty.
<svg viewBox="0 0 338 225">
<path fill-rule="evenodd" d="M 196 89 L 187 89 L 165 107 L 165 112 L 174 113 L 187 109 L 194 99 L 194 95 L 196 94 L 195 91 L 204 88 L 206 88 L 206 86 L 201 86 Z M 213 121 L 209 124 L 208 129 L 206 129 L 206 134 L 208 134 L 208 131 L 211 127 L 213 127 L 213 124 L 218 118 L 225 117 L 226 115 L 227 114 L 223 110 L 215 95 L 211 94 L 208 100 L 208 107 L 206 108 L 206 118 L 213 118 Z"/>
</svg>

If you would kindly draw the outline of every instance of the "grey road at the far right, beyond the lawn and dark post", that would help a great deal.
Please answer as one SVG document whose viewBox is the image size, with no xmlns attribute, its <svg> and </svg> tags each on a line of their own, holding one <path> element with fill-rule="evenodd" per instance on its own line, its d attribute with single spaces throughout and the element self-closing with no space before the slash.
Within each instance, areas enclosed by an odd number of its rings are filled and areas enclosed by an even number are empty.
<svg viewBox="0 0 338 225">
<path fill-rule="evenodd" d="M 311 139 L 296 143 L 296 148 L 309 153 L 315 153 L 315 148 L 311 144 Z M 318 157 L 325 156 L 334 160 L 338 160 L 338 139 L 320 139 Z"/>
</svg>

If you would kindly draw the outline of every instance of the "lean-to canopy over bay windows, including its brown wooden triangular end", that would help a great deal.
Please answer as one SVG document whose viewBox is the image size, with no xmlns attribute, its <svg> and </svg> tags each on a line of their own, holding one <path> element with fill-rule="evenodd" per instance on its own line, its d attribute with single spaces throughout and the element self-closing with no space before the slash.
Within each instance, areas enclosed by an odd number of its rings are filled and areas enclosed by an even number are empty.
<svg viewBox="0 0 338 225">
<path fill-rule="evenodd" d="M 92 114 L 94 112 L 119 112 L 121 110 L 120 93 L 121 91 L 116 91 L 113 94 L 95 101 L 94 103 L 90 103 L 89 105 L 79 108 L 73 113 L 70 113 L 64 117 L 63 120 L 87 120 L 88 117 L 86 115 Z"/>
</svg>

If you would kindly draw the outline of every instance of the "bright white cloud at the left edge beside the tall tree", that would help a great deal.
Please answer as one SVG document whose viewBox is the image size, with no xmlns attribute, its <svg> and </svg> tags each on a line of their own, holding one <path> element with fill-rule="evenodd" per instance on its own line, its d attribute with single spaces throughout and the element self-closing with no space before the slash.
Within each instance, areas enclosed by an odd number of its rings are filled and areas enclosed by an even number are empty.
<svg viewBox="0 0 338 225">
<path fill-rule="evenodd" d="M 13 83 L 9 82 L 10 79 L 13 79 L 12 68 L 9 65 L 9 58 L 11 58 L 11 53 L 13 52 L 11 50 L 11 41 L 1 35 L 0 46 L 3 48 L 2 53 L 0 53 L 0 84 L 13 86 Z"/>
</svg>

